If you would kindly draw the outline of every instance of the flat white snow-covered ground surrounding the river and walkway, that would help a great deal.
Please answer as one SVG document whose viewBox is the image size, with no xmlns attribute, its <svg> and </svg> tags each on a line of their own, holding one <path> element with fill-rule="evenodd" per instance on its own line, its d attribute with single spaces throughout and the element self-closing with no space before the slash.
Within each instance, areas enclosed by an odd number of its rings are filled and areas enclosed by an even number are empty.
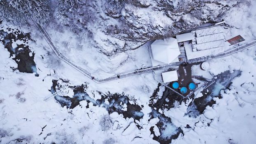
<svg viewBox="0 0 256 144">
<path fill-rule="evenodd" d="M 230 9 L 225 21 L 230 26 L 229 33 L 232 36 L 240 34 L 247 41 L 255 39 L 255 7 L 256 2 L 252 1 L 249 6 L 240 5 Z M 16 27 L 7 22 L 0 25 L 0 30 L 7 33 L 15 31 L 7 28 Z M 77 70 L 59 61 L 35 27 L 19 29 L 23 33 L 31 32 L 31 39 L 35 42 L 19 40 L 13 42 L 12 47 L 25 42 L 25 45 L 35 52 L 34 61 L 39 76 L 36 77 L 35 73 L 13 71 L 10 67 L 18 67 L 12 59 L 14 56 L 9 58 L 9 51 L 0 43 L 1 144 L 53 142 L 56 144 L 75 142 L 77 144 L 158 144 L 170 142 L 165 142 L 163 139 L 170 139 L 177 132 L 179 132 L 177 138 L 171 141 L 173 144 L 254 144 L 256 142 L 255 46 L 232 56 L 209 61 L 209 71 L 214 75 L 225 71 L 233 73 L 235 70 L 240 70 L 241 74 L 231 80 L 232 84 L 228 89 L 220 86 L 225 90 L 221 90 L 221 97 L 214 98 L 216 104 L 212 107 L 207 106 L 200 115 L 189 116 L 189 103 L 193 101 L 190 98 L 172 104 L 174 95 L 168 95 L 165 101 L 175 106 L 170 109 L 158 109 L 159 113 L 155 111 L 155 107 L 150 107 L 150 99 L 155 92 L 157 98 L 153 100 L 154 103 L 165 98 L 163 86 L 155 91 L 158 83 L 154 80 L 153 74 L 135 75 L 95 84 Z M 60 32 L 50 27 L 47 32 L 65 56 L 98 77 L 105 78 L 115 73 L 151 66 L 147 44 L 136 50 L 107 57 L 90 47 L 86 39 L 78 39 L 65 28 Z M 200 70 L 199 66 L 192 66 L 192 75 L 210 79 L 209 73 Z M 85 91 L 91 100 L 81 100 L 73 109 L 61 107 L 54 98 L 43 102 L 43 98 L 51 94 L 49 90 L 53 85 L 53 79 L 58 80 L 59 85 L 68 84 L 69 87 L 63 95 L 70 98 L 75 93 L 73 86 L 87 85 Z M 60 79 L 69 81 L 61 83 Z M 129 102 L 119 104 L 122 107 L 121 114 L 116 111 L 109 113 L 110 110 L 105 107 L 111 105 L 109 99 L 105 99 L 104 105 L 93 104 L 93 100 L 101 99 L 101 96 L 108 92 L 111 95 L 123 93 L 124 98 L 127 96 L 130 99 Z M 125 116 L 126 112 L 132 109 L 127 106 L 128 103 L 141 108 L 141 111 L 135 111 L 133 114 L 140 115 L 141 119 Z M 144 115 L 142 116 L 140 112 Z"/>
</svg>

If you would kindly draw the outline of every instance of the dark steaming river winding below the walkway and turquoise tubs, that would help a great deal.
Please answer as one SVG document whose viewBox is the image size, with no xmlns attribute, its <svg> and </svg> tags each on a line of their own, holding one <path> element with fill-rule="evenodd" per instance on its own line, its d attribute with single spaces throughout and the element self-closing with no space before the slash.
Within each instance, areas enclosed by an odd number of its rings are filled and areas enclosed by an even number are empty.
<svg viewBox="0 0 256 144">
<path fill-rule="evenodd" d="M 191 65 L 184 66 L 185 69 L 191 69 Z M 180 69 L 184 72 L 184 67 L 180 67 Z M 158 118 L 159 122 L 156 124 L 160 131 L 160 136 L 156 137 L 154 135 L 153 139 L 160 142 L 161 144 L 169 144 L 172 142 L 172 139 L 176 139 L 180 134 L 184 135 L 182 129 L 180 127 L 176 127 L 173 123 L 171 118 L 165 116 L 164 114 L 161 114 L 158 112 L 159 109 L 170 109 L 175 106 L 176 103 L 179 102 L 186 102 L 188 99 L 193 99 L 193 101 L 188 105 L 187 108 L 187 115 L 197 117 L 200 114 L 203 113 L 205 108 L 209 105 L 212 106 L 215 104 L 215 101 L 213 100 L 214 97 L 221 98 L 220 91 L 221 89 L 229 88 L 231 81 L 235 77 L 239 77 L 241 74 L 241 71 L 235 70 L 233 73 L 230 73 L 229 71 L 222 72 L 221 74 L 216 75 L 215 83 L 211 86 L 207 87 L 202 91 L 203 96 L 200 98 L 194 98 L 194 95 L 191 95 L 189 98 L 184 98 L 180 95 L 177 95 L 177 93 L 174 93 L 168 88 L 165 88 L 165 91 L 163 92 L 163 95 L 161 95 L 161 98 L 159 95 L 157 95 L 159 91 L 159 87 L 161 84 L 158 85 L 158 88 L 154 91 L 154 93 L 151 96 L 150 104 L 149 106 L 152 109 L 152 112 L 150 113 L 151 118 Z M 191 79 L 191 71 L 186 70 L 186 77 L 187 80 L 183 81 L 183 83 L 189 83 L 192 81 Z M 61 79 L 60 79 L 61 80 Z M 62 81 L 62 80 L 61 80 Z M 51 93 L 55 93 L 56 89 L 61 88 L 62 86 L 58 84 L 58 80 L 53 80 L 53 85 L 51 87 Z M 185 85 L 185 84 L 184 84 Z M 68 96 L 60 96 L 56 95 L 55 99 L 60 103 L 62 107 L 67 108 L 74 108 L 79 104 L 80 101 L 86 100 L 88 103 L 92 102 L 94 106 L 100 106 L 104 107 L 109 114 L 116 111 L 119 114 L 123 114 L 124 118 L 134 118 L 135 120 L 140 120 L 144 116 L 144 114 L 141 112 L 143 105 L 137 105 L 136 100 L 134 100 L 129 95 L 125 95 L 124 93 L 107 93 L 103 94 L 98 92 L 101 95 L 101 99 L 94 100 L 91 98 L 87 92 L 86 88 L 87 86 L 85 84 L 82 84 L 80 86 L 73 86 L 70 87 L 73 89 L 74 95 L 72 98 Z M 157 99 L 156 102 L 153 102 L 154 99 Z M 166 100 L 168 99 L 168 100 Z M 105 103 L 105 100 L 108 101 L 109 104 Z M 135 104 L 131 104 L 129 100 L 134 100 Z M 127 105 L 127 110 L 124 111 L 123 104 Z M 121 105 L 122 104 L 122 105 Z M 176 104 L 177 105 L 177 104 Z M 88 107 L 88 105 L 83 107 Z M 137 126 L 138 128 L 141 128 L 140 126 Z M 186 128 L 190 128 L 189 125 L 187 125 Z M 154 134 L 153 127 L 150 129 L 151 134 Z"/>
</svg>

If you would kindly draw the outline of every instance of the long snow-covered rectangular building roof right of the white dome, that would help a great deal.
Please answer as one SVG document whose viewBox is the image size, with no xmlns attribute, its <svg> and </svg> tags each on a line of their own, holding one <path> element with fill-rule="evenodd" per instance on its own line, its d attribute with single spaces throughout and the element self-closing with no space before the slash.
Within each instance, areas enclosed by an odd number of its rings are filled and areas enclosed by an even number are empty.
<svg viewBox="0 0 256 144">
<path fill-rule="evenodd" d="M 209 56 L 226 51 L 222 25 L 192 30 L 190 33 L 177 35 L 177 42 L 182 42 L 188 60 Z"/>
</svg>

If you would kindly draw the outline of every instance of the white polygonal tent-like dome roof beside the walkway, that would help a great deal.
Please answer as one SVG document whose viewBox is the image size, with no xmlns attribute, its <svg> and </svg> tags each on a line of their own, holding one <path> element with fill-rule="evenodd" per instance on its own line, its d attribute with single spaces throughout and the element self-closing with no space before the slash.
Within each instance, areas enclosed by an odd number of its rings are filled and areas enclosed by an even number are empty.
<svg viewBox="0 0 256 144">
<path fill-rule="evenodd" d="M 154 60 L 162 63 L 171 63 L 180 55 L 177 39 L 157 39 L 151 44 Z"/>
</svg>

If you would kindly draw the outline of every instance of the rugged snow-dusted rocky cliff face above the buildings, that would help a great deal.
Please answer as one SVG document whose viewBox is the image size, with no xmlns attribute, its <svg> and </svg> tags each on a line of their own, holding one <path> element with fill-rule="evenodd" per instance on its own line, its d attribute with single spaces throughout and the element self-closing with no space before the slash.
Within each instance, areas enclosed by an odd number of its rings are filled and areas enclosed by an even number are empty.
<svg viewBox="0 0 256 144">
<path fill-rule="evenodd" d="M 223 19 L 239 0 L 92 0 L 58 18 L 108 56 Z M 62 9 L 63 10 L 63 9 Z M 63 20 L 63 17 L 65 18 Z M 76 19 L 74 21 L 74 19 Z"/>
</svg>

